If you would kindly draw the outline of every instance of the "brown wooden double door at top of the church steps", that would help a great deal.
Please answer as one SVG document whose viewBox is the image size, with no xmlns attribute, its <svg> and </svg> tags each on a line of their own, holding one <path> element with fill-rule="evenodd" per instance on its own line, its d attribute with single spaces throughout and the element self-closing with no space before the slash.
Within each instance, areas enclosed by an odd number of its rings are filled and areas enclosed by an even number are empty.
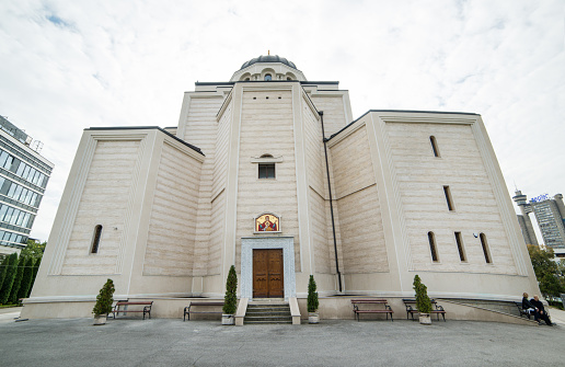
<svg viewBox="0 0 565 367">
<path fill-rule="evenodd" d="M 282 249 L 253 250 L 253 298 L 285 297 Z"/>
</svg>

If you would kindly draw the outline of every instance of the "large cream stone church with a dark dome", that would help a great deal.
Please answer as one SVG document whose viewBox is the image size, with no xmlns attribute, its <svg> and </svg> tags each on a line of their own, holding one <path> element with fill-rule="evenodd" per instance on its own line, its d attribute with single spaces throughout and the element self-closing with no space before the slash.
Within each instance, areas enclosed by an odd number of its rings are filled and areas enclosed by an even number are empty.
<svg viewBox="0 0 565 367">
<path fill-rule="evenodd" d="M 84 130 L 22 317 L 89 316 L 108 277 L 176 317 L 165 299 L 223 297 L 231 265 L 241 300 L 300 308 L 314 275 L 332 318 L 416 274 L 436 298 L 539 293 L 480 115 L 354 119 L 338 82 L 262 56 L 197 82 L 174 128 Z"/>
</svg>

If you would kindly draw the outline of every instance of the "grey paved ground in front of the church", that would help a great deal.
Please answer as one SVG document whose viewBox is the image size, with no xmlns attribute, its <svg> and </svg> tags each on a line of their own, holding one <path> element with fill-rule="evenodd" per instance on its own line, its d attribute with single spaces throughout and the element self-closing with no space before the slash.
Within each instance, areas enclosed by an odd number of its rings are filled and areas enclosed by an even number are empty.
<svg viewBox="0 0 565 367">
<path fill-rule="evenodd" d="M 564 342 L 563 322 L 553 328 L 450 320 L 430 326 L 407 320 L 222 326 L 220 321 L 118 318 L 93 326 L 92 319 L 4 320 L 0 365 L 564 366 Z"/>
</svg>

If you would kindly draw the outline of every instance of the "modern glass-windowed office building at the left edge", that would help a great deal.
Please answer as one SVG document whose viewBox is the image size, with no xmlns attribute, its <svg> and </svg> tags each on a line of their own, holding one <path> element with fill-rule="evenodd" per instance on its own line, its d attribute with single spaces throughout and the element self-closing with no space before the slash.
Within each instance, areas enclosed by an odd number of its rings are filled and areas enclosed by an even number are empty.
<svg viewBox="0 0 565 367">
<path fill-rule="evenodd" d="M 54 164 L 0 116 L 0 256 L 25 248 Z"/>
</svg>

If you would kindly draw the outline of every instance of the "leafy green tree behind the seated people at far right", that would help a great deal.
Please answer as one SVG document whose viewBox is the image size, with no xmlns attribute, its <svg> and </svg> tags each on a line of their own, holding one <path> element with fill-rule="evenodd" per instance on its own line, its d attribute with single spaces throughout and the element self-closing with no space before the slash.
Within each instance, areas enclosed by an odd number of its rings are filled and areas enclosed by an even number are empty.
<svg viewBox="0 0 565 367">
<path fill-rule="evenodd" d="M 540 285 L 540 291 L 546 298 L 560 297 L 565 291 L 563 269 L 553 261 L 553 249 L 542 250 L 537 245 L 528 245 L 533 272 Z"/>
</svg>

